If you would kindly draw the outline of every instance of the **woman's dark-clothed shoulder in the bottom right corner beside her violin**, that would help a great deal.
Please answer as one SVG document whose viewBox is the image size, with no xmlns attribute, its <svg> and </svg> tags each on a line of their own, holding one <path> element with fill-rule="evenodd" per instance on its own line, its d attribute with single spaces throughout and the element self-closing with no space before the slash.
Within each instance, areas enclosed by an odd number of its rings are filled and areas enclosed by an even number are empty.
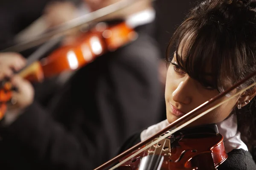
<svg viewBox="0 0 256 170">
<path fill-rule="evenodd" d="M 227 160 L 218 167 L 218 170 L 256 170 L 256 164 L 248 151 L 234 149 L 228 153 Z"/>
</svg>

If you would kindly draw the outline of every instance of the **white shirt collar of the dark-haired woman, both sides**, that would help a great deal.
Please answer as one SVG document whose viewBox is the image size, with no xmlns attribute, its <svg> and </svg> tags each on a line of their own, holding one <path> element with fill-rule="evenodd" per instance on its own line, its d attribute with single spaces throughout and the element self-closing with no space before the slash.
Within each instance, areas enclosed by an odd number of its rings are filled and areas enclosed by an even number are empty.
<svg viewBox="0 0 256 170">
<path fill-rule="evenodd" d="M 166 120 L 148 127 L 140 133 L 140 140 L 143 141 L 149 136 L 157 133 L 158 131 L 169 125 Z M 241 140 L 240 132 L 237 131 L 237 120 L 235 115 L 231 115 L 228 119 L 217 123 L 219 133 L 224 137 L 224 146 L 227 153 L 233 149 L 244 149 L 248 151 L 248 148 Z"/>
</svg>

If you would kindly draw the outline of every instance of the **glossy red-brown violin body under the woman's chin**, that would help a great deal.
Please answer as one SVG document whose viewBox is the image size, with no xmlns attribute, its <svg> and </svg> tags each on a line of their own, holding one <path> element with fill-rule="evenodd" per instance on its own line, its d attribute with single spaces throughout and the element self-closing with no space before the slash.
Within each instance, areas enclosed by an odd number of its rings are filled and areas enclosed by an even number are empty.
<svg viewBox="0 0 256 170">
<path fill-rule="evenodd" d="M 216 170 L 226 159 L 221 134 L 191 133 L 161 140 L 118 170 Z"/>
</svg>

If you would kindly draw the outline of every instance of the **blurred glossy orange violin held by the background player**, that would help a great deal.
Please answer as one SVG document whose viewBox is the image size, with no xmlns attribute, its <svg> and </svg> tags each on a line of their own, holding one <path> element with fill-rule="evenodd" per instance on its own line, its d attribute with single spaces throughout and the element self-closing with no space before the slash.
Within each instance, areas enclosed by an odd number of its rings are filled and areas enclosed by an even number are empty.
<svg viewBox="0 0 256 170">
<path fill-rule="evenodd" d="M 98 23 L 96 26 L 81 35 L 72 45 L 57 48 L 48 57 L 32 62 L 18 74 L 30 82 L 42 82 L 45 78 L 53 77 L 64 71 L 75 71 L 92 62 L 96 57 L 115 51 L 116 49 L 136 40 L 137 33 L 125 22 L 114 26 Z M 55 42 L 58 42 L 55 40 Z M 54 45 L 55 43 L 52 43 Z M 0 88 L 0 119 L 6 112 L 6 103 L 12 99 L 12 85 L 2 82 Z"/>
</svg>

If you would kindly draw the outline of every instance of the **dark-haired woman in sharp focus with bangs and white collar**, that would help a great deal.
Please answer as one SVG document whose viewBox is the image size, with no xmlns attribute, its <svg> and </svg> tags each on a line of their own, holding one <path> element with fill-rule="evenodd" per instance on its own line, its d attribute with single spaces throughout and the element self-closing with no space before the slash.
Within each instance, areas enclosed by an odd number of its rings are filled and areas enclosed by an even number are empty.
<svg viewBox="0 0 256 170">
<path fill-rule="evenodd" d="M 169 52 L 174 55 L 169 56 Z M 167 120 L 133 136 L 122 151 L 256 71 L 256 1 L 204 1 L 177 28 L 166 59 L 169 63 L 165 91 Z M 255 77 L 217 102 L 253 82 Z M 256 170 L 248 152 L 248 147 L 255 144 L 252 126 L 255 95 L 256 88 L 251 88 L 188 126 L 217 125 L 228 153 L 228 159 L 218 170 Z"/>
</svg>

